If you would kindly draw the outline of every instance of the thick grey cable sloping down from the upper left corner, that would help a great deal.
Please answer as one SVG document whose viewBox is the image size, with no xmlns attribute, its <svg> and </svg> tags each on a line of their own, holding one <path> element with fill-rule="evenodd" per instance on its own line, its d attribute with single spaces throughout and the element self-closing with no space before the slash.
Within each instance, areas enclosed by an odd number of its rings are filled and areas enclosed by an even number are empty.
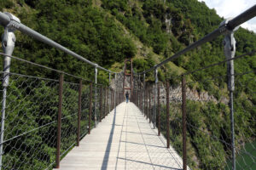
<svg viewBox="0 0 256 170">
<path fill-rule="evenodd" d="M 44 43 L 48 44 L 51 47 L 58 48 L 61 51 L 65 52 L 67 54 L 70 54 L 70 55 L 72 55 L 73 57 L 75 57 L 77 59 L 80 59 L 80 60 L 82 60 L 82 61 L 84 61 L 84 62 L 86 62 L 90 65 L 95 66 L 98 69 L 101 69 L 102 71 L 108 71 L 109 73 L 117 73 L 117 72 L 114 72 L 114 71 L 109 71 L 108 69 L 103 68 L 102 66 L 97 65 L 96 63 L 93 63 L 88 59 L 84 59 L 84 57 L 82 57 L 81 55 L 76 54 L 73 51 L 71 51 L 70 49 L 61 46 L 61 44 L 49 39 L 48 37 L 43 36 L 42 34 L 38 33 L 37 31 L 34 31 L 31 28 L 23 25 L 22 23 L 12 22 L 12 20 L 9 18 L 9 15 L 4 14 L 2 12 L 0 12 L 0 24 L 2 26 L 8 26 L 9 24 L 11 24 L 12 26 L 14 26 L 17 30 L 21 31 L 22 33 L 24 33 L 28 36 L 31 36 L 31 37 L 37 39 L 40 42 L 44 42 Z"/>
</svg>

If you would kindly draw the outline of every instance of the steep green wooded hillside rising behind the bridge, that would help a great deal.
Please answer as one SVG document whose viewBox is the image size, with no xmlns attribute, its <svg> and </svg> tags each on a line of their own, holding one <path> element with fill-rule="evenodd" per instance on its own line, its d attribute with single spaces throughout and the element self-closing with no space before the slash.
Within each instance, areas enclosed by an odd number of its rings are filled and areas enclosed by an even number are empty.
<svg viewBox="0 0 256 170">
<path fill-rule="evenodd" d="M 15 14 L 26 26 L 112 71 L 121 71 L 125 58 L 134 59 L 135 71 L 146 70 L 204 37 L 218 28 L 220 22 L 224 20 L 214 9 L 207 8 L 205 3 L 199 3 L 197 0 L 4 0 L 0 1 L 0 11 Z M 0 33 L 3 34 L 2 26 Z M 17 37 L 15 56 L 93 79 L 94 68 L 90 65 L 55 48 L 50 48 L 19 31 L 16 31 L 15 35 Z M 256 49 L 256 35 L 253 31 L 239 28 L 235 37 L 236 55 Z M 223 39 L 224 36 L 218 37 L 164 65 L 160 69 L 160 81 L 165 81 L 167 77 L 171 79 L 171 86 L 178 86 L 179 75 L 183 72 L 224 60 Z M 254 71 L 240 80 L 242 84 L 246 84 L 246 88 L 239 86 L 236 88 L 235 104 L 243 108 L 237 111 L 236 118 L 245 118 L 247 120 L 245 124 L 254 132 L 256 127 L 253 120 L 256 110 L 253 105 L 256 103 L 256 95 L 252 92 L 256 89 L 255 82 L 251 80 L 252 77 L 255 78 L 255 69 L 256 55 L 235 61 L 236 73 Z M 11 71 L 56 78 L 52 72 L 42 71 L 36 67 L 30 68 L 18 62 L 14 62 Z M 196 72 L 189 76 L 189 81 L 196 82 L 225 74 L 226 65 L 218 65 Z M 153 82 L 153 76 L 153 72 L 148 73 L 147 81 Z M 199 92 L 207 91 L 219 100 L 221 95 L 227 95 L 225 81 L 223 78 L 212 82 L 191 83 L 189 88 Z M 108 84 L 106 72 L 100 72 L 99 82 Z M 227 105 L 195 101 L 189 101 L 188 105 L 189 123 L 195 126 L 209 127 L 214 124 L 215 119 L 216 122 L 229 119 Z M 176 106 L 172 105 L 173 108 Z M 218 113 L 221 113 L 220 117 L 216 116 Z M 171 118 L 175 119 L 175 117 Z M 202 124 L 197 124 L 198 120 L 203 120 Z M 236 131 L 237 143 L 238 139 L 240 142 L 238 148 L 241 144 L 254 141 L 255 133 L 248 131 L 247 126 L 241 124 L 236 126 L 241 127 Z M 229 122 L 214 125 L 207 133 L 215 132 L 222 135 L 222 128 L 229 129 Z M 162 130 L 164 132 L 165 127 L 162 127 Z M 177 139 L 172 139 L 172 144 L 181 153 L 182 139 L 179 138 L 181 129 L 179 130 Z M 188 133 L 189 166 L 193 169 L 223 169 L 224 162 L 218 162 L 214 157 L 207 155 L 211 150 L 207 147 L 210 139 L 205 139 L 199 132 Z M 195 133 L 198 135 L 194 135 Z M 224 141 L 228 142 L 230 134 L 226 135 L 227 139 Z M 225 148 L 224 143 L 216 142 L 214 146 L 218 148 L 215 154 L 224 161 L 228 160 L 230 150 Z"/>
</svg>

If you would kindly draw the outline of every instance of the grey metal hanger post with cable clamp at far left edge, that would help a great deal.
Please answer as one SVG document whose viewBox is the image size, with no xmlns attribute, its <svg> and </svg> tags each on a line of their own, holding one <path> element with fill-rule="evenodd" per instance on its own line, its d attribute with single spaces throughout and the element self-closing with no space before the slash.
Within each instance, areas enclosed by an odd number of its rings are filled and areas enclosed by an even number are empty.
<svg viewBox="0 0 256 170">
<path fill-rule="evenodd" d="M 7 13 L 6 13 L 7 14 Z M 3 39 L 2 39 L 2 47 L 3 53 L 7 55 L 12 55 L 15 49 L 15 24 L 20 23 L 20 20 L 12 14 L 8 14 L 10 18 L 10 23 L 8 26 L 5 26 Z M 7 96 L 7 88 L 9 86 L 9 72 L 10 72 L 10 64 L 11 58 L 8 56 L 4 56 L 3 60 L 3 100 L 2 100 L 2 122 L 1 122 L 1 135 L 0 135 L 0 169 L 3 167 L 3 138 L 4 138 L 4 122 L 5 122 L 5 109 L 6 109 L 6 96 Z"/>
</svg>

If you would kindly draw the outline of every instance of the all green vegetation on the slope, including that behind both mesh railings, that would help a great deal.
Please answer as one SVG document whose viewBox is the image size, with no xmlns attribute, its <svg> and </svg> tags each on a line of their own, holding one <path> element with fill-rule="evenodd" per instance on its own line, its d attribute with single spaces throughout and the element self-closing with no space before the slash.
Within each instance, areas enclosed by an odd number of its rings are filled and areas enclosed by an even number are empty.
<svg viewBox="0 0 256 170">
<path fill-rule="evenodd" d="M 135 71 L 148 69 L 218 28 L 220 22 L 224 20 L 216 14 L 214 9 L 207 8 L 205 3 L 199 3 L 197 0 L 4 0 L 0 1 L 0 10 L 15 14 L 26 26 L 113 71 L 121 70 L 124 59 L 131 57 L 134 58 Z M 0 27 L 0 33 L 3 33 L 3 27 Z M 72 56 L 21 34 L 19 31 L 16 31 L 15 35 L 17 37 L 15 56 L 76 76 L 93 79 L 94 68 L 90 65 L 73 59 Z M 256 49 L 256 36 L 253 31 L 239 28 L 235 37 L 236 55 Z M 223 38 L 218 37 L 212 42 L 207 42 L 185 56 L 173 60 L 173 63 L 164 65 L 159 71 L 160 80 L 164 81 L 166 77 L 172 77 L 171 85 L 177 87 L 180 84 L 179 76 L 184 71 L 193 71 L 224 60 Z M 247 130 L 248 126 L 254 132 L 256 128 L 253 122 L 256 118 L 253 107 L 256 103 L 256 94 L 253 92 L 256 89 L 252 81 L 253 78 L 255 79 L 255 68 L 255 55 L 235 61 L 236 73 L 252 71 L 238 77 L 238 82 L 236 82 L 236 84 L 243 85 L 236 86 L 235 93 L 235 119 L 237 120 L 236 127 L 239 127 L 236 130 L 238 147 L 255 140 L 255 134 Z M 11 71 L 35 77 L 58 78 L 53 71 L 20 64 L 15 59 L 12 60 Z M 226 66 L 217 65 L 211 69 L 195 72 L 188 78 L 189 81 L 196 82 L 189 84 L 190 89 L 196 89 L 198 92 L 207 91 L 209 95 L 213 95 L 218 100 L 218 104 L 211 101 L 201 103 L 193 100 L 188 103 L 188 126 L 203 128 L 202 131 L 202 129 L 188 127 L 189 166 L 195 169 L 223 169 L 224 161 L 230 157 L 230 148 L 224 143 L 230 143 L 228 118 L 230 113 L 227 105 L 223 105 L 220 101 L 221 95 L 228 98 L 225 74 Z M 203 81 L 212 77 L 222 78 Z M 65 77 L 65 80 L 77 82 L 71 77 Z M 101 71 L 99 80 L 100 83 L 108 84 L 108 75 Z M 26 89 L 25 85 L 19 81 L 17 80 L 9 87 L 9 92 L 14 93 L 9 95 L 10 105 L 7 112 L 11 112 L 9 122 L 13 124 L 6 125 L 9 127 L 6 132 L 14 133 L 5 133 L 7 139 L 27 129 L 40 127 L 43 122 L 56 120 L 57 98 L 52 97 L 52 94 L 57 93 L 56 88 L 44 81 L 34 84 L 32 80 L 27 80 L 27 84 L 32 87 Z M 154 81 L 153 72 L 147 74 L 147 81 Z M 17 88 L 19 85 L 21 88 Z M 77 91 L 73 88 L 67 88 L 67 93 L 73 94 L 73 97 L 77 99 Z M 26 97 L 27 95 L 29 97 Z M 35 103 L 37 100 L 43 103 Z M 49 108 L 44 108 L 49 104 Z M 72 104 L 73 107 L 69 107 Z M 73 102 L 64 101 L 63 105 L 69 108 L 63 111 L 64 115 L 73 114 L 77 110 L 74 100 Z M 20 112 L 17 106 L 27 109 Z M 177 109 L 180 105 L 172 104 L 171 106 L 172 145 L 181 153 L 181 114 Z M 86 108 L 84 106 L 84 111 Z M 37 118 L 37 111 L 45 113 L 40 120 Z M 26 116 L 20 118 L 16 115 Z M 164 113 L 161 117 L 163 116 Z M 26 125 L 27 118 L 30 122 Z M 19 123 L 15 124 L 15 122 Z M 75 130 L 76 125 L 73 124 L 73 119 L 67 119 L 65 123 L 67 123 L 67 126 L 63 126 L 65 131 L 70 128 Z M 84 125 L 87 122 L 82 123 Z M 14 129 L 11 129 L 12 127 Z M 165 132 L 165 127 L 161 128 Z M 55 160 L 55 145 L 47 143 L 47 138 L 41 135 L 43 133 L 55 134 L 55 130 L 52 131 L 52 129 L 55 129 L 55 124 L 44 128 L 42 132 L 32 133 L 30 138 L 19 139 L 16 143 L 10 141 L 6 144 L 22 149 L 22 152 L 16 152 L 7 147 L 9 154 L 3 159 L 15 162 L 16 166 L 9 165 L 10 167 L 7 168 L 35 169 L 45 167 L 49 161 Z M 218 140 L 212 142 L 212 135 L 209 134 L 214 134 Z M 220 137 L 224 139 L 220 140 Z M 63 140 L 71 142 L 74 138 L 72 135 L 65 136 Z M 41 143 L 34 143 L 34 141 L 41 141 Z M 31 160 L 29 150 L 35 145 L 40 148 L 40 151 L 35 151 L 33 153 L 35 159 Z M 63 146 L 65 148 L 63 150 L 66 150 L 69 145 L 68 143 Z M 214 153 L 212 147 L 216 149 Z M 26 166 L 22 162 L 30 162 L 30 164 Z M 36 167 L 29 167 L 29 165 Z"/>
</svg>

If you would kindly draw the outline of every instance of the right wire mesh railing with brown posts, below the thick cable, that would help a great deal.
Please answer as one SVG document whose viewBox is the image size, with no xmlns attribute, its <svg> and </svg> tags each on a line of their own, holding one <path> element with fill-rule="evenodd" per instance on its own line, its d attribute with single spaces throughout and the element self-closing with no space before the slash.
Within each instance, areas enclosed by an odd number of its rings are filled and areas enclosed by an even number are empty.
<svg viewBox="0 0 256 170">
<path fill-rule="evenodd" d="M 245 59 L 247 55 L 253 57 L 253 53 L 233 59 Z M 142 111 L 149 122 L 154 121 L 154 97 L 159 98 L 160 121 L 156 117 L 156 127 L 166 136 L 166 146 L 171 144 L 192 169 L 227 170 L 235 169 L 234 165 L 236 169 L 256 168 L 256 71 L 253 68 L 238 70 L 230 75 L 235 77 L 234 91 L 228 88 L 230 77 L 227 75 L 200 76 L 213 67 L 224 69 L 225 63 L 227 60 L 187 73 L 180 77 L 183 82 L 171 84 L 169 92 L 164 82 L 160 84 L 158 96 L 154 96 L 154 85 L 150 82 L 139 89 L 145 95 Z M 166 105 L 167 93 L 169 105 Z M 136 103 L 137 99 L 132 101 Z"/>
</svg>

